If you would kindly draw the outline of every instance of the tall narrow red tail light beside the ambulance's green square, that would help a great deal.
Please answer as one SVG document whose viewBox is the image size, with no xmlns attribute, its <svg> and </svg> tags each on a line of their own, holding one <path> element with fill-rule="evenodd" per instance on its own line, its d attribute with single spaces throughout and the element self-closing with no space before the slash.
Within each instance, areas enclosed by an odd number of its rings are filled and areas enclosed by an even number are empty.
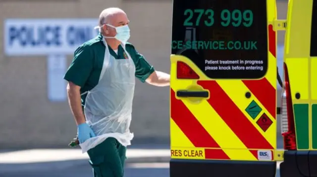
<svg viewBox="0 0 317 177">
<path fill-rule="evenodd" d="M 291 87 L 289 82 L 287 66 L 284 63 L 284 79 L 285 79 L 285 92 L 286 92 L 286 107 L 287 107 L 287 121 L 288 121 L 288 132 L 282 134 L 284 137 L 284 149 L 296 150 L 296 134 L 295 134 L 295 123 L 293 113 L 293 103 L 291 96 Z"/>
</svg>

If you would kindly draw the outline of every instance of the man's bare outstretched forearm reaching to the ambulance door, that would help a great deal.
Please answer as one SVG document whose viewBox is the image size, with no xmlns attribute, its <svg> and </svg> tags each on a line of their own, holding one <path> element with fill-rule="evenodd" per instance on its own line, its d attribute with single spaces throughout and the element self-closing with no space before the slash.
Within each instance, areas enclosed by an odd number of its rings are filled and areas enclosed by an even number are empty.
<svg viewBox="0 0 317 177">
<path fill-rule="evenodd" d="M 159 86 L 159 87 L 169 86 L 169 81 L 170 81 L 170 75 L 161 71 L 154 71 L 146 79 L 147 83 L 151 85 Z"/>
</svg>

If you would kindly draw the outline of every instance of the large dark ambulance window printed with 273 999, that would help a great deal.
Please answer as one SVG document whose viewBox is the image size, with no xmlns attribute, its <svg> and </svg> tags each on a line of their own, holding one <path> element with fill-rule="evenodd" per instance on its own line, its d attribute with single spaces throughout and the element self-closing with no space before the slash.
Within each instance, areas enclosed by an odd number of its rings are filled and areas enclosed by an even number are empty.
<svg viewBox="0 0 317 177">
<path fill-rule="evenodd" d="M 210 78 L 263 77 L 266 0 L 173 0 L 171 48 Z"/>
</svg>

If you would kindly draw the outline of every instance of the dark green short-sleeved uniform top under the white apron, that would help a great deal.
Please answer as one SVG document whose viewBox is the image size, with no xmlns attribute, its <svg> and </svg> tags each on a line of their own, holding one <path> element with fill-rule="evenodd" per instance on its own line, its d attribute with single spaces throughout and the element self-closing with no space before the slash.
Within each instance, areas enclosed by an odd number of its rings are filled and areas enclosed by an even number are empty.
<svg viewBox="0 0 317 177">
<path fill-rule="evenodd" d="M 121 60 L 127 58 L 121 45 L 117 54 L 108 46 L 110 55 L 115 59 Z M 103 42 L 103 36 L 99 34 L 97 37 L 83 43 L 74 52 L 74 58 L 64 75 L 64 79 L 81 87 L 80 92 L 94 88 L 99 82 L 106 46 Z M 135 76 L 145 82 L 145 80 L 154 72 L 143 55 L 138 53 L 131 43 L 126 43 L 125 50 L 130 54 L 135 65 Z M 82 105 L 85 105 L 86 95 L 82 96 Z"/>
</svg>

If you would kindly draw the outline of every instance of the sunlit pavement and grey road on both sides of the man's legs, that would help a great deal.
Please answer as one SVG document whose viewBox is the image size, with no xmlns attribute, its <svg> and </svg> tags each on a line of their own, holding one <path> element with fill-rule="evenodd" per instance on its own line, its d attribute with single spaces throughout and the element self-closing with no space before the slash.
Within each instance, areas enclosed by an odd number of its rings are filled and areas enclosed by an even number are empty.
<svg viewBox="0 0 317 177">
<path fill-rule="evenodd" d="M 169 177 L 169 155 L 168 148 L 130 148 L 125 177 Z M 92 177 L 92 170 L 80 149 L 2 151 L 0 177 Z"/>
</svg>

